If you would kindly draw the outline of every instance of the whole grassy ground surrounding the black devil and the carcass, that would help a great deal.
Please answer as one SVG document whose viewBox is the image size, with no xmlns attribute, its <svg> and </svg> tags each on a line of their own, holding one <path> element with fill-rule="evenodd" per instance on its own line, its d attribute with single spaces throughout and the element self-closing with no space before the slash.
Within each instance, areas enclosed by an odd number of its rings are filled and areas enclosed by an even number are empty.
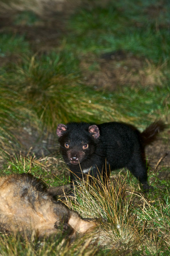
<svg viewBox="0 0 170 256">
<path fill-rule="evenodd" d="M 69 183 L 58 123 L 123 121 L 143 130 L 170 123 L 168 1 L 0 0 L 1 175 L 28 172 L 47 186 Z M 93 234 L 69 244 L 61 234 L 23 239 L 1 234 L 0 255 L 170 255 L 169 128 L 146 148 L 142 194 L 126 169 L 110 185 L 77 189 L 65 202 L 99 218 Z M 101 186 L 103 186 L 101 184 Z"/>
</svg>

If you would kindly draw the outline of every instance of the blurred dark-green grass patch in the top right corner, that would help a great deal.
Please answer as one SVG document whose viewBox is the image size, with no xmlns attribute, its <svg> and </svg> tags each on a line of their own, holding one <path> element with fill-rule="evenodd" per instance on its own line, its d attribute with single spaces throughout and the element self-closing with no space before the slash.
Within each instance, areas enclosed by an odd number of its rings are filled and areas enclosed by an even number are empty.
<svg viewBox="0 0 170 256">
<path fill-rule="evenodd" d="M 80 9 L 69 23 L 70 40 L 74 38 L 74 41 L 68 46 L 81 52 L 97 54 L 124 49 L 157 64 L 165 61 L 169 63 L 170 35 L 166 27 L 170 24 L 169 4 L 164 6 L 166 9 L 159 12 L 154 20 L 147 13 L 147 8 L 153 8 L 152 5 L 147 1 L 138 2 L 139 5 L 136 1 L 125 1 L 124 5 L 110 1 L 105 8 L 94 6 Z M 158 1 L 154 2 L 158 4 Z"/>
</svg>

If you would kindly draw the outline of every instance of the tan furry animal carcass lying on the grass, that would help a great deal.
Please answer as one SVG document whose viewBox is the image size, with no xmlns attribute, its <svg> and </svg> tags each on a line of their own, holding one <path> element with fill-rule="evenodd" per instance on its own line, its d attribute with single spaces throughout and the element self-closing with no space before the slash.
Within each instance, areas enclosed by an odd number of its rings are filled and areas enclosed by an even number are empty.
<svg viewBox="0 0 170 256">
<path fill-rule="evenodd" d="M 37 236 L 83 234 L 95 226 L 56 202 L 36 178 L 27 174 L 0 177 L 0 225 L 6 232 L 34 232 Z"/>
</svg>

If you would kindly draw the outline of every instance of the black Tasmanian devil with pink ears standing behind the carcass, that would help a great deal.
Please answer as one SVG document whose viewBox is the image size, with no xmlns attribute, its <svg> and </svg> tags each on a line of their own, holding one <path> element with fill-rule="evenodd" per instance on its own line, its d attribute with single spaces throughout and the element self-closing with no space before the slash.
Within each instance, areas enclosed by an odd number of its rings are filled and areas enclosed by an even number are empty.
<svg viewBox="0 0 170 256">
<path fill-rule="evenodd" d="M 59 124 L 58 140 L 63 159 L 71 171 L 72 188 L 83 174 L 105 178 L 109 170 L 126 167 L 142 184 L 143 190 L 148 190 L 144 147 L 154 141 L 164 128 L 160 120 L 142 133 L 120 122 Z"/>
</svg>

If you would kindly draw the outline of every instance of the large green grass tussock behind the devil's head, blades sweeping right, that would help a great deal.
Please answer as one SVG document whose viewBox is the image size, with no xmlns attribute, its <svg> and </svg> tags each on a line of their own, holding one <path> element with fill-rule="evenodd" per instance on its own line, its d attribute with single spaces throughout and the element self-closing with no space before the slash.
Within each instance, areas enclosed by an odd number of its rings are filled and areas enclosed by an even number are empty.
<svg viewBox="0 0 170 256">
<path fill-rule="evenodd" d="M 109 95 L 82 84 L 78 59 L 72 53 L 33 55 L 15 72 L 18 74 L 17 92 L 47 130 L 54 131 L 57 123 L 70 120 L 126 119 Z"/>
</svg>

